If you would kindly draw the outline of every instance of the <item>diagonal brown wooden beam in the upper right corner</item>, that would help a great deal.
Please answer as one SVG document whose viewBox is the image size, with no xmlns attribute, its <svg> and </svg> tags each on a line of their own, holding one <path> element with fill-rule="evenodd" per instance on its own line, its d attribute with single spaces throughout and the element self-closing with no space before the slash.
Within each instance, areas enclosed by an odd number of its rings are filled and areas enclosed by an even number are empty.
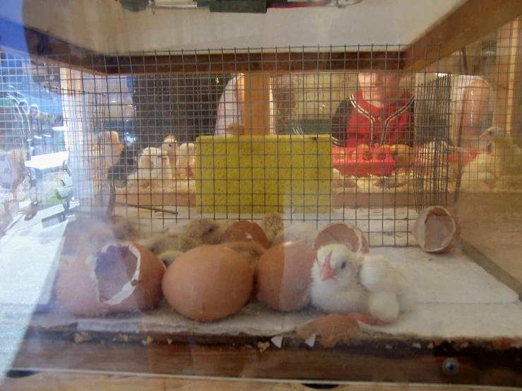
<svg viewBox="0 0 522 391">
<path fill-rule="evenodd" d="M 405 49 L 403 70 L 422 71 L 521 15 L 521 0 L 468 0 Z"/>
</svg>

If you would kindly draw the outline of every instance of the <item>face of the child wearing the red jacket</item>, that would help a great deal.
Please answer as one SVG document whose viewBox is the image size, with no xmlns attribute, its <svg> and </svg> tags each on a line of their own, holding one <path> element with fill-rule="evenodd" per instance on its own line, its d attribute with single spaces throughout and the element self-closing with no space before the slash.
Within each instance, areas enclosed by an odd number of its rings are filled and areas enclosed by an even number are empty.
<svg viewBox="0 0 522 391">
<path fill-rule="evenodd" d="M 399 83 L 402 76 L 398 73 L 359 73 L 357 78 L 365 100 L 393 101 L 401 95 Z"/>
</svg>

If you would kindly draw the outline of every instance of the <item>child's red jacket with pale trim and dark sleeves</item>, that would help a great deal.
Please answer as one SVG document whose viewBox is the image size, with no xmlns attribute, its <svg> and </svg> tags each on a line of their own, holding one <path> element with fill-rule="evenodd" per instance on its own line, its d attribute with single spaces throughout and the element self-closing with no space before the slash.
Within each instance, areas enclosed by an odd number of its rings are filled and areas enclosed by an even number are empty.
<svg viewBox="0 0 522 391">
<path fill-rule="evenodd" d="M 371 147 L 388 144 L 413 146 L 413 97 L 403 95 L 384 107 L 374 107 L 355 92 L 340 102 L 331 121 L 331 134 L 341 147 L 367 144 Z"/>
</svg>

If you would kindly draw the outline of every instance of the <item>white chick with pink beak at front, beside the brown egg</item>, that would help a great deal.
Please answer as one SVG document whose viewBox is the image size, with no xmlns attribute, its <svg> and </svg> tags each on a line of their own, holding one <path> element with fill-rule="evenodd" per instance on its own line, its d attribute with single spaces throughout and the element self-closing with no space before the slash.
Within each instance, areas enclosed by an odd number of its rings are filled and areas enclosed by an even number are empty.
<svg viewBox="0 0 522 391">
<path fill-rule="evenodd" d="M 362 257 L 344 244 L 319 248 L 309 287 L 312 304 L 328 313 L 364 313 L 369 292 L 359 282 Z"/>
</svg>

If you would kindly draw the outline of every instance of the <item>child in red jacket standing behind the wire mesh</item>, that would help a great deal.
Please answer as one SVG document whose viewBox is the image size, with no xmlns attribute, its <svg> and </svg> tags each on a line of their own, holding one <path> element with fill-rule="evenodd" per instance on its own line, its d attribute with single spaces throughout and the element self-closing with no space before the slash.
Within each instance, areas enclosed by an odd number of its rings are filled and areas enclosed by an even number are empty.
<svg viewBox="0 0 522 391">
<path fill-rule="evenodd" d="M 386 69 L 359 73 L 359 90 L 340 102 L 331 120 L 334 144 L 369 147 L 405 144 L 413 147 L 413 95 L 401 88 L 405 76 L 398 61 Z"/>
</svg>

